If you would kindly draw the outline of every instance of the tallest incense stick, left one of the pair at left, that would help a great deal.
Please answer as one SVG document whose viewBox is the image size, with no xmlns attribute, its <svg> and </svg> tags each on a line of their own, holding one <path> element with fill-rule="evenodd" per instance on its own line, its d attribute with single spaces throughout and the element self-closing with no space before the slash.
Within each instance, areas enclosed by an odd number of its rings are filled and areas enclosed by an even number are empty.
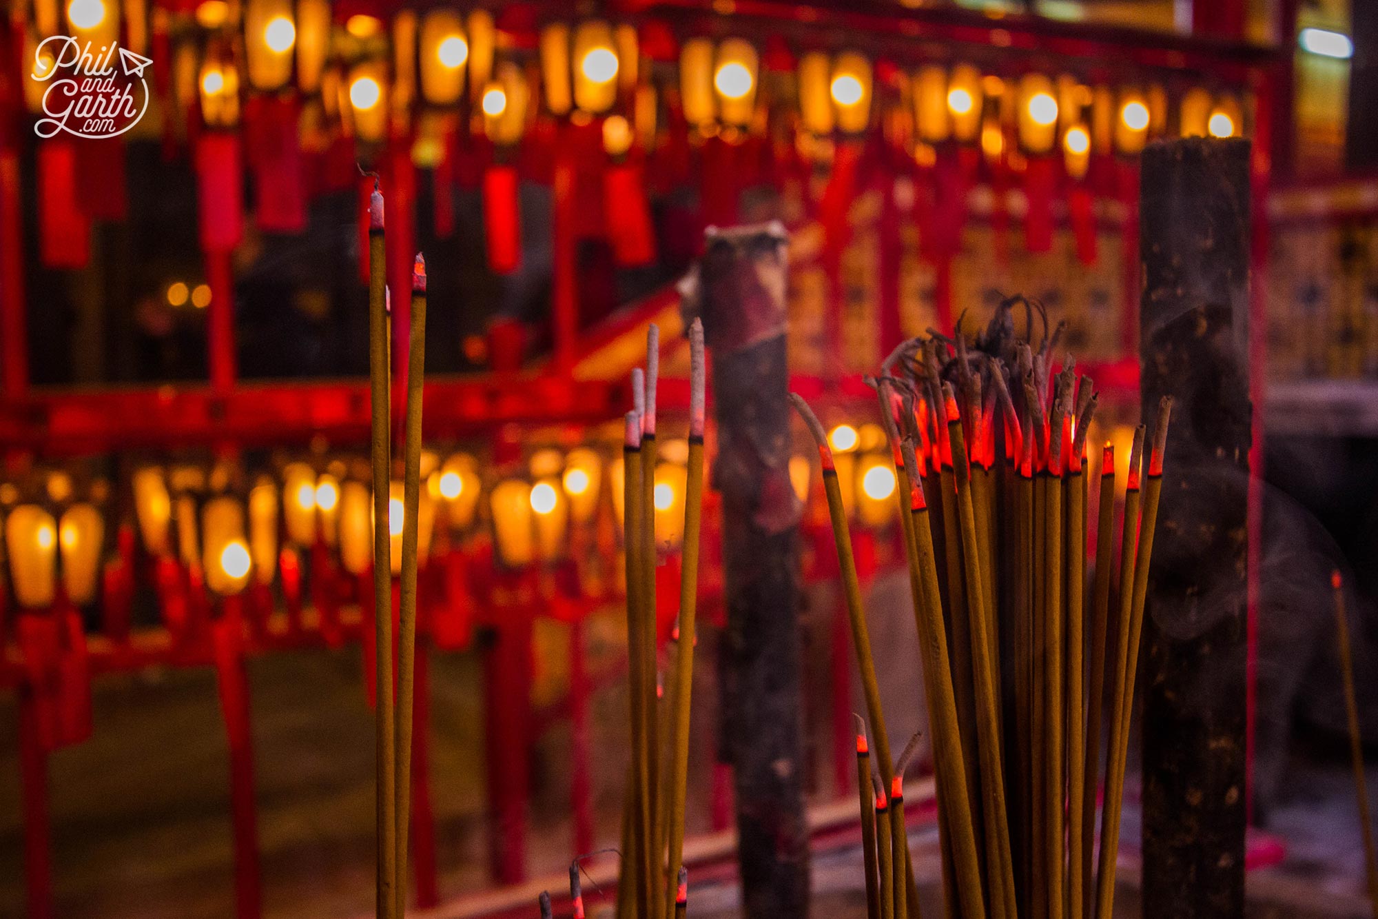
<svg viewBox="0 0 1378 919">
<path fill-rule="evenodd" d="M 373 465 L 373 651 L 375 749 L 378 756 L 376 818 L 378 864 L 376 902 L 379 916 L 397 915 L 397 763 L 393 724 L 393 564 L 387 531 L 391 443 L 389 436 L 389 391 L 391 384 L 387 331 L 386 257 L 383 250 L 383 195 L 373 184 L 368 224 L 368 370 L 372 400 Z"/>
</svg>

